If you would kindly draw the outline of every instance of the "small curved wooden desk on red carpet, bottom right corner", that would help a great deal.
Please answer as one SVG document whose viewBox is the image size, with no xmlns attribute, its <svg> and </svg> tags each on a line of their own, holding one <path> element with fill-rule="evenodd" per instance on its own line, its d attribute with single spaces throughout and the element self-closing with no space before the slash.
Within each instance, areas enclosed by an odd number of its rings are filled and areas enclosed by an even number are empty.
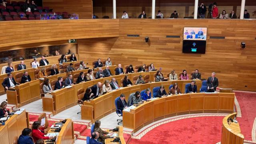
<svg viewBox="0 0 256 144">
<path fill-rule="evenodd" d="M 234 119 L 236 112 L 225 116 L 222 120 L 221 144 L 243 144 L 244 135 L 241 134 L 239 123 L 231 122 L 230 118 Z"/>
</svg>

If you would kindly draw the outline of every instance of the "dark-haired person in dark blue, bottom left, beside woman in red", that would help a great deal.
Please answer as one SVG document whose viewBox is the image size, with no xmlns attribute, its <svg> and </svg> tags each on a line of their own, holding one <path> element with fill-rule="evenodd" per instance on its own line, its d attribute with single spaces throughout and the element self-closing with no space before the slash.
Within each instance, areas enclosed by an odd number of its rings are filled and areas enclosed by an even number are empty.
<svg viewBox="0 0 256 144">
<path fill-rule="evenodd" d="M 18 138 L 18 144 L 34 144 L 33 139 L 31 138 L 31 132 L 30 128 L 24 128 Z"/>
</svg>

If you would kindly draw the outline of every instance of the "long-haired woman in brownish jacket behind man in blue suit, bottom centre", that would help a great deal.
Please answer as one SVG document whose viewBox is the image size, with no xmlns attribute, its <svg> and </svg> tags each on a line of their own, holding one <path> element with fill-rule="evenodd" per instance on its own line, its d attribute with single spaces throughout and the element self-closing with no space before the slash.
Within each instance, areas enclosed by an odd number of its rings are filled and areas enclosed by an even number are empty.
<svg viewBox="0 0 256 144">
<path fill-rule="evenodd" d="M 109 138 L 110 136 L 112 136 L 113 133 L 109 133 L 109 132 L 106 132 L 104 130 L 102 130 L 100 128 L 100 121 L 99 120 L 96 120 L 95 123 L 94 123 L 94 132 L 98 132 L 99 133 L 99 138 L 98 140 L 102 143 L 102 144 L 105 144 L 105 139 L 106 138 Z M 108 135 L 107 135 L 108 134 Z M 100 143 L 97 143 L 97 144 L 100 144 Z"/>
</svg>

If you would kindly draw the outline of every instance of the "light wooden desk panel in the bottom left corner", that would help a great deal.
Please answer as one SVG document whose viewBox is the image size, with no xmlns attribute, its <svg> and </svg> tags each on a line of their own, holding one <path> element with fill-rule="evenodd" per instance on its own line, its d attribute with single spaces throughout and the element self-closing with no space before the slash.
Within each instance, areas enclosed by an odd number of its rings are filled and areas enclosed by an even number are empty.
<svg viewBox="0 0 256 144">
<path fill-rule="evenodd" d="M 13 144 L 14 138 L 19 137 L 24 128 L 27 128 L 26 111 L 14 114 L 4 126 L 0 126 L 0 144 Z"/>
</svg>

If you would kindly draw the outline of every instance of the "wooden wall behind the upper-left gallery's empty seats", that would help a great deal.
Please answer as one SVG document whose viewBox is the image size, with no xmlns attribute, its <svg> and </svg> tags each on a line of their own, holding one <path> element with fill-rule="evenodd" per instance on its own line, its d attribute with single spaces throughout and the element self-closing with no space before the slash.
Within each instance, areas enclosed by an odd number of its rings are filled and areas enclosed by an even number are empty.
<svg viewBox="0 0 256 144">
<path fill-rule="evenodd" d="M 79 18 L 92 18 L 92 0 L 43 0 L 54 12 L 79 14 Z"/>
</svg>

